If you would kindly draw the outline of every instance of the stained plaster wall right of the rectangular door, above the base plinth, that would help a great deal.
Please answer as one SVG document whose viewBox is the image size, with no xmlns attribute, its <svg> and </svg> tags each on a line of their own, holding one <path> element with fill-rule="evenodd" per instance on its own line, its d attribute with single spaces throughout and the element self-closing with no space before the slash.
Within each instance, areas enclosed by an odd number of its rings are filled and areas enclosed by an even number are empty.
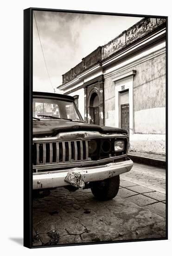
<svg viewBox="0 0 172 256">
<path fill-rule="evenodd" d="M 165 54 L 134 67 L 134 133 L 166 133 Z"/>
</svg>

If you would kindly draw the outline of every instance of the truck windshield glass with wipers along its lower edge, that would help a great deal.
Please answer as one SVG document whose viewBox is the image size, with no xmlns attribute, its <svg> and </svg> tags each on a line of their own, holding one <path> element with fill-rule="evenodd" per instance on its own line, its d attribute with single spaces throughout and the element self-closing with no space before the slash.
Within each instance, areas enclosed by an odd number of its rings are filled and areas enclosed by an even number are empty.
<svg viewBox="0 0 172 256">
<path fill-rule="evenodd" d="M 46 98 L 33 98 L 33 118 L 83 121 L 74 102 Z"/>
</svg>

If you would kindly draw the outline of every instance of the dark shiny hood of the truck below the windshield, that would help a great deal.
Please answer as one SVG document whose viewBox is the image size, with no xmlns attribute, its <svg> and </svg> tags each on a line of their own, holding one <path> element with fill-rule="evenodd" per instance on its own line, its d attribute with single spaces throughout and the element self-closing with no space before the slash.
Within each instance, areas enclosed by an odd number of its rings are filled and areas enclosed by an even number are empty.
<svg viewBox="0 0 172 256">
<path fill-rule="evenodd" d="M 83 122 L 75 121 L 64 121 L 64 120 L 40 120 L 33 121 L 33 136 L 55 136 L 60 132 L 71 132 L 71 131 L 99 131 L 100 133 L 124 133 L 127 131 L 120 128 L 99 126 L 95 124 L 88 124 Z"/>
</svg>

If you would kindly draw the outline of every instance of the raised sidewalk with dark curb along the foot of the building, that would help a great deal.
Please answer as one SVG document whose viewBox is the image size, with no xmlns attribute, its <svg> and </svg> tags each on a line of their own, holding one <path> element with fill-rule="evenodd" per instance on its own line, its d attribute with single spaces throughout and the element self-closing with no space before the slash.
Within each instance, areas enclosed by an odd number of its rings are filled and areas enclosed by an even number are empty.
<svg viewBox="0 0 172 256">
<path fill-rule="evenodd" d="M 158 168 L 166 168 L 166 155 L 129 151 L 128 157 L 136 163 L 155 166 Z"/>
</svg>

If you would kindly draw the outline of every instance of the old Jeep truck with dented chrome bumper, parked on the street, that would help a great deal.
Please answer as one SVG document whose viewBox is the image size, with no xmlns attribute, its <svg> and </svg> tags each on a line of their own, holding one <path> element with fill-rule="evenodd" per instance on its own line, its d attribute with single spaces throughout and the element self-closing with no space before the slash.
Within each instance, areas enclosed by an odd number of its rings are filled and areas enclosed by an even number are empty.
<svg viewBox="0 0 172 256">
<path fill-rule="evenodd" d="M 33 189 L 90 188 L 98 200 L 114 198 L 127 157 L 127 131 L 85 123 L 74 98 L 33 93 Z"/>
</svg>

